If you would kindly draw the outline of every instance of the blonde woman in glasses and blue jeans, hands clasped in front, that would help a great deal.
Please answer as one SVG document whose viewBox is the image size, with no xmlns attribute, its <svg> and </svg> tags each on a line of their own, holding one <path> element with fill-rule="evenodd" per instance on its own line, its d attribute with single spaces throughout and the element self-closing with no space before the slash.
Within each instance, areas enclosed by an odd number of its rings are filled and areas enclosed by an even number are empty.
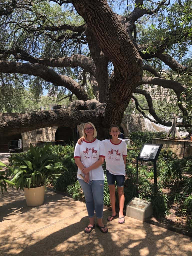
<svg viewBox="0 0 192 256">
<path fill-rule="evenodd" d="M 78 166 L 78 181 L 86 198 L 89 215 L 89 225 L 84 232 L 89 234 L 95 228 L 94 213 L 96 213 L 97 227 L 102 233 L 107 233 L 108 229 L 102 221 L 105 179 L 102 164 L 105 159 L 105 149 L 101 141 L 97 140 L 97 131 L 92 123 L 85 124 L 83 137 L 84 143 L 76 144 L 74 158 Z M 85 175 L 84 179 L 81 175 Z"/>
</svg>

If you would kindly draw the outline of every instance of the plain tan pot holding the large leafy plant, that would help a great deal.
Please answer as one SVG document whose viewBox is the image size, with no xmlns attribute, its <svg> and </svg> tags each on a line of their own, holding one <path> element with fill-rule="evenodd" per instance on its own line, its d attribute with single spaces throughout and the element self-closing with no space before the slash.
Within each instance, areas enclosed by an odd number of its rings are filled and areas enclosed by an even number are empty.
<svg viewBox="0 0 192 256">
<path fill-rule="evenodd" d="M 24 188 L 27 206 L 39 206 L 44 203 L 45 186 L 38 188 Z"/>
</svg>

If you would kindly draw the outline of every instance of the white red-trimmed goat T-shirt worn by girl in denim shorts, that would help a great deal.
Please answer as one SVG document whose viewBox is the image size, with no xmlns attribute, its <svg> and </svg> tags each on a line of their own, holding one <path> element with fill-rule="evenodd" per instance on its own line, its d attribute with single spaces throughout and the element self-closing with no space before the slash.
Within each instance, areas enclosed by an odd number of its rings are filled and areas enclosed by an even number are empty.
<svg viewBox="0 0 192 256">
<path fill-rule="evenodd" d="M 114 144 L 111 140 L 102 141 L 105 145 L 106 169 L 113 175 L 125 176 L 125 164 L 123 156 L 127 156 L 127 144 L 121 141 Z"/>
</svg>

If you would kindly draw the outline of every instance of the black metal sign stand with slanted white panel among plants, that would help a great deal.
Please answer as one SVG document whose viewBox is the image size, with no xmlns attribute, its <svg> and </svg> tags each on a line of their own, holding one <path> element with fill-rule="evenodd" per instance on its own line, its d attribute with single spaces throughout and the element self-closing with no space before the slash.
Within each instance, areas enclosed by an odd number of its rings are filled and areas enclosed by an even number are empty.
<svg viewBox="0 0 192 256">
<path fill-rule="evenodd" d="M 137 195 L 139 192 L 139 167 L 138 161 L 153 162 L 154 169 L 154 184 L 157 186 L 157 159 L 161 152 L 163 144 L 144 144 L 137 156 Z"/>
</svg>

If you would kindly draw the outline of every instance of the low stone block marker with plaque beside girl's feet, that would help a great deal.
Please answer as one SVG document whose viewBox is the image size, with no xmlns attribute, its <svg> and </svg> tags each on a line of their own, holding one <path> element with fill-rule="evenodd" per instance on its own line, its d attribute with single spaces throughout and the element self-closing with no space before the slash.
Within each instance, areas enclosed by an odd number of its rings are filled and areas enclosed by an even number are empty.
<svg viewBox="0 0 192 256">
<path fill-rule="evenodd" d="M 126 216 L 144 221 L 153 213 L 152 204 L 143 199 L 134 197 L 126 205 Z"/>
</svg>

